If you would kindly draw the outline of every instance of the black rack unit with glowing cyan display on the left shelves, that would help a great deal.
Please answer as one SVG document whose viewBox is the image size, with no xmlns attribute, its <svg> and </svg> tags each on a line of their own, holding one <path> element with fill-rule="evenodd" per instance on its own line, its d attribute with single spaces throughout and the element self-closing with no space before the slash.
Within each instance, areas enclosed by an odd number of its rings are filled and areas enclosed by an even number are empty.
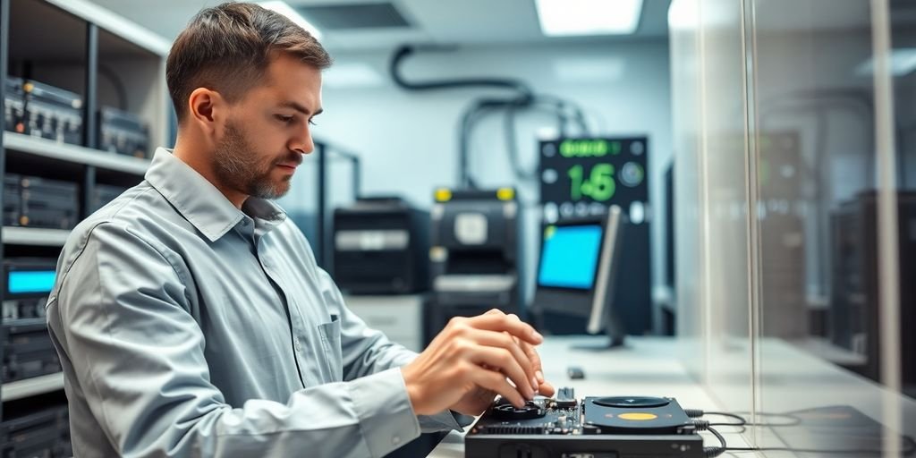
<svg viewBox="0 0 916 458">
<path fill-rule="evenodd" d="M 54 288 L 56 267 L 54 259 L 4 259 L 4 323 L 45 316 L 45 304 L 48 302 L 51 289 Z"/>
</svg>

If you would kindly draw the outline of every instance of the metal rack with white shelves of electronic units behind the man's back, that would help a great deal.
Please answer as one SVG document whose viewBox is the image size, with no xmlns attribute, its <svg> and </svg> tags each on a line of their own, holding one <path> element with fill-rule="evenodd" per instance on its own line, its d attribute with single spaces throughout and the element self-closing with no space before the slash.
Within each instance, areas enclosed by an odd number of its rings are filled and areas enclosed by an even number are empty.
<svg viewBox="0 0 916 458">
<path fill-rule="evenodd" d="M 92 213 L 98 196 L 105 194 L 97 186 L 126 188 L 142 180 L 152 151 L 147 151 L 147 158 L 133 158 L 97 149 L 98 113 L 104 106 L 117 106 L 146 123 L 151 148 L 171 145 L 164 71 L 169 47 L 168 40 L 87 0 L 0 0 L 0 79 L 34 80 L 82 97 L 80 145 L 0 128 L 0 176 L 13 173 L 74 183 L 80 190 L 80 219 Z M 0 84 L 0 112 L 5 110 L 5 88 Z M 0 192 L 0 206 L 13 203 L 12 197 L 7 190 Z M 56 259 L 69 234 L 68 229 L 4 224 L 0 256 L 5 261 Z M 6 276 L 2 276 L 0 300 L 10 299 L 5 291 Z M 3 351 L 0 345 L 0 360 L 8 359 Z M 60 372 L 4 380 L 0 385 L 4 456 L 66 456 L 69 432 L 64 398 Z"/>
</svg>

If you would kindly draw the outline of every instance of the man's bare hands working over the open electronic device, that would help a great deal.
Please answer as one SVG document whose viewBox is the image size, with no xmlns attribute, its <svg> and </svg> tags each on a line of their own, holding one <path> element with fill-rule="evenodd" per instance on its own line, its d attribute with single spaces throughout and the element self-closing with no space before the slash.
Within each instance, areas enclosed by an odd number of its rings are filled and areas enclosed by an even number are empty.
<svg viewBox="0 0 916 458">
<path fill-rule="evenodd" d="M 417 359 L 401 369 L 414 411 L 431 415 L 453 409 L 477 415 L 496 394 L 517 407 L 538 391 L 551 396 L 553 387 L 544 381 L 533 346 L 542 340 L 518 316 L 502 311 L 453 318 Z"/>
</svg>

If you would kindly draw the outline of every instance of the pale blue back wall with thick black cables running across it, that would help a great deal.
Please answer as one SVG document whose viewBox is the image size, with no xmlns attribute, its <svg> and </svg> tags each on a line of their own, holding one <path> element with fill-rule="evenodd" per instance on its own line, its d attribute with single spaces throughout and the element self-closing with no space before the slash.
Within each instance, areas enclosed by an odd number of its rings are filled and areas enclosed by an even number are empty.
<svg viewBox="0 0 916 458">
<path fill-rule="evenodd" d="M 582 106 L 590 133 L 599 136 L 649 137 L 649 200 L 652 245 L 661 244 L 663 206 L 661 177 L 671 162 L 671 82 L 666 38 L 626 42 L 504 45 L 417 51 L 401 68 L 411 82 L 468 77 L 518 79 L 535 93 L 548 93 Z M 317 116 L 314 136 L 358 154 L 362 161 L 365 194 L 397 194 L 428 208 L 432 191 L 457 183 L 458 127 L 463 110 L 474 99 L 507 95 L 493 89 L 452 89 L 409 92 L 389 76 L 390 52 L 341 51 L 335 66 L 365 65 L 372 78 L 340 82 L 331 73 L 323 84 L 325 112 Z M 332 72 L 330 70 L 329 72 Z M 555 136 L 555 115 L 522 113 L 516 133 L 522 169 L 536 171 L 539 136 Z M 470 173 L 481 187 L 517 186 L 524 209 L 527 273 L 537 261 L 540 213 L 537 180 L 513 178 L 506 147 L 504 117 L 482 119 L 470 142 Z M 570 135 L 579 134 L 571 129 Z M 314 174 L 306 160 L 292 191 L 280 203 L 292 213 L 314 208 Z M 349 165 L 332 159 L 330 199 L 352 202 Z M 654 283 L 662 277 L 662 250 L 651 256 Z M 529 286 L 532 282 L 526 282 Z"/>
</svg>

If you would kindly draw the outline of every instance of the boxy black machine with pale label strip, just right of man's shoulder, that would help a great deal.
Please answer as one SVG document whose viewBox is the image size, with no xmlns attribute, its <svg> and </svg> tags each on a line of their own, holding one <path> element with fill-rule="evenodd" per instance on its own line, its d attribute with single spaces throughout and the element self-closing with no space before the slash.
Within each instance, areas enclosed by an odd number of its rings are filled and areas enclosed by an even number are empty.
<svg viewBox="0 0 916 458">
<path fill-rule="evenodd" d="M 408 294 L 429 285 L 429 213 L 397 197 L 334 210 L 334 281 L 351 294 Z"/>
</svg>

